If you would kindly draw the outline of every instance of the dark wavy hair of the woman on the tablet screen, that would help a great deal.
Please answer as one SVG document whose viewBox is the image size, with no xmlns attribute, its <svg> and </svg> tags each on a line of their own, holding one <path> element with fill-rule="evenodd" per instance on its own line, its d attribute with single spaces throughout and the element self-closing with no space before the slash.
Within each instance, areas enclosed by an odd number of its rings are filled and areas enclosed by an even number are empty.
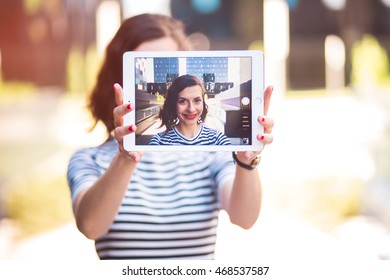
<svg viewBox="0 0 390 280">
<path fill-rule="evenodd" d="M 160 110 L 158 116 L 161 119 L 160 127 L 163 127 L 165 125 L 166 131 L 168 131 L 176 124 L 178 117 L 176 106 L 179 100 L 179 93 L 182 92 L 185 88 L 192 86 L 199 86 L 202 90 L 203 111 L 200 116 L 200 119 L 202 122 L 206 119 L 206 115 L 208 112 L 208 107 L 205 102 L 206 90 L 203 86 L 203 83 L 197 77 L 187 74 L 177 77 L 169 86 L 163 108 Z"/>
</svg>

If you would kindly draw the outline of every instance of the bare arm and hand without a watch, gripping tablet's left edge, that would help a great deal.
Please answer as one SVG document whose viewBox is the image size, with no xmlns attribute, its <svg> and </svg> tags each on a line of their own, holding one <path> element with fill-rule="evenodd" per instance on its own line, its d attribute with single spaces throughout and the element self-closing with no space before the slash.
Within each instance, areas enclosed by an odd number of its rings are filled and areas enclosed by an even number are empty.
<svg viewBox="0 0 390 280">
<path fill-rule="evenodd" d="M 122 104 L 123 91 L 114 85 L 117 107 L 114 109 L 115 138 L 118 152 L 106 172 L 90 187 L 80 191 L 73 203 L 79 230 L 90 239 L 104 235 L 118 212 L 131 176 L 142 154 L 128 152 L 123 148 L 123 137 L 136 130 L 135 125 L 123 126 L 122 118 L 134 109 L 133 104 Z"/>
</svg>

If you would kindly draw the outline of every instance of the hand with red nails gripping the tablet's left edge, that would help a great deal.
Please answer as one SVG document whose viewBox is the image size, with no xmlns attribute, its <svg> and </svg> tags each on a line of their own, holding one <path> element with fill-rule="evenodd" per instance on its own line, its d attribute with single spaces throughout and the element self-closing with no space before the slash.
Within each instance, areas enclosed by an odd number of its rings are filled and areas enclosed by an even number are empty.
<svg viewBox="0 0 390 280">
<path fill-rule="evenodd" d="M 127 134 L 135 133 L 137 130 L 136 125 L 123 125 L 124 115 L 134 110 L 134 104 L 123 104 L 123 89 L 118 83 L 114 84 L 114 92 L 117 105 L 113 111 L 115 124 L 114 137 L 118 141 L 119 153 L 126 158 L 132 159 L 134 162 L 138 162 L 142 157 L 142 152 L 129 152 L 123 147 L 123 137 Z"/>
</svg>

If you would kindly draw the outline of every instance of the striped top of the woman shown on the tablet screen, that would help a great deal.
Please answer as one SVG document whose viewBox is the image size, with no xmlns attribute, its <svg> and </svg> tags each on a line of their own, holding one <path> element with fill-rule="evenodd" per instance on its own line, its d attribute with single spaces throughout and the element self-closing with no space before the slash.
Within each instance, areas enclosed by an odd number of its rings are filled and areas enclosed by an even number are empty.
<svg viewBox="0 0 390 280">
<path fill-rule="evenodd" d="M 183 136 L 175 127 L 169 131 L 157 133 L 149 145 L 230 145 L 229 138 L 221 131 L 201 125 L 198 134 L 189 139 Z"/>
</svg>

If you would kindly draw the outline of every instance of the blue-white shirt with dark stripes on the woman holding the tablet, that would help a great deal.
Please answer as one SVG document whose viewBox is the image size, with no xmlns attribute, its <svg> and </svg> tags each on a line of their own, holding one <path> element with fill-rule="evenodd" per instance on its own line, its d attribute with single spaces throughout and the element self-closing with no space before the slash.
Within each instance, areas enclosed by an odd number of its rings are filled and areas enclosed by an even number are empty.
<svg viewBox="0 0 390 280">
<path fill-rule="evenodd" d="M 105 172 L 117 149 L 112 140 L 72 156 L 72 200 Z M 234 170 L 229 152 L 144 153 L 108 233 L 95 241 L 98 256 L 213 259 L 219 189 Z"/>
</svg>

